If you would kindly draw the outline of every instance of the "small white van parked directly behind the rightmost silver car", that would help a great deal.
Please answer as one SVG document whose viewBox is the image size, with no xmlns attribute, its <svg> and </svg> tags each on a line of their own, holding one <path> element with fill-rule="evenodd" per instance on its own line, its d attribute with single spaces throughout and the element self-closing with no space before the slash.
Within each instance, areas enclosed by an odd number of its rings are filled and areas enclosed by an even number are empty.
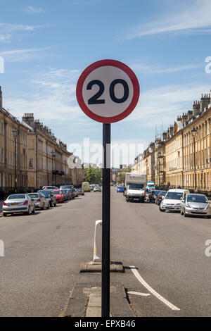
<svg viewBox="0 0 211 331">
<path fill-rule="evenodd" d="M 160 211 L 180 211 L 184 195 L 190 193 L 188 189 L 170 189 L 160 204 Z"/>
</svg>

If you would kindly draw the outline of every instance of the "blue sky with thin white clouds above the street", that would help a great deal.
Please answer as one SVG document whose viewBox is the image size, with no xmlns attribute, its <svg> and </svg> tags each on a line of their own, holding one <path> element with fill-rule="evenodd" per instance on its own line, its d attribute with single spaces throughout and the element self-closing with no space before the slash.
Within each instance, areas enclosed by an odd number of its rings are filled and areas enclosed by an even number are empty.
<svg viewBox="0 0 211 331">
<path fill-rule="evenodd" d="M 102 125 L 75 97 L 87 65 L 113 58 L 139 79 L 139 104 L 112 125 L 113 142 L 148 144 L 209 93 L 210 0 L 7 0 L 1 4 L 4 108 L 34 113 L 68 145 L 101 142 Z"/>
</svg>

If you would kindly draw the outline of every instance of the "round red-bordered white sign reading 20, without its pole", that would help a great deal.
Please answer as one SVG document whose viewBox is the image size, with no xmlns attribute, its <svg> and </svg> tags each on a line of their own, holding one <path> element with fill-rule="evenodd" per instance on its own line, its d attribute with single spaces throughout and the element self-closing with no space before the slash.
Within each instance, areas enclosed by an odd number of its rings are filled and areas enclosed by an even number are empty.
<svg viewBox="0 0 211 331">
<path fill-rule="evenodd" d="M 101 123 L 126 118 L 139 101 L 139 82 L 124 63 L 101 60 L 87 67 L 77 82 L 77 101 L 82 111 Z"/>
</svg>

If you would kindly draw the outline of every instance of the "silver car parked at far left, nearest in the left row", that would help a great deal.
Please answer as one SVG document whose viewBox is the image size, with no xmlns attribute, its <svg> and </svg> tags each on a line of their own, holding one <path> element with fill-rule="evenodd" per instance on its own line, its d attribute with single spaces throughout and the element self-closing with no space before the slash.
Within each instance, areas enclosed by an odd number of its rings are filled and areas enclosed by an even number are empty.
<svg viewBox="0 0 211 331">
<path fill-rule="evenodd" d="M 2 206 L 3 216 L 12 213 L 25 213 L 30 215 L 35 211 L 33 199 L 28 194 L 11 194 Z"/>
</svg>

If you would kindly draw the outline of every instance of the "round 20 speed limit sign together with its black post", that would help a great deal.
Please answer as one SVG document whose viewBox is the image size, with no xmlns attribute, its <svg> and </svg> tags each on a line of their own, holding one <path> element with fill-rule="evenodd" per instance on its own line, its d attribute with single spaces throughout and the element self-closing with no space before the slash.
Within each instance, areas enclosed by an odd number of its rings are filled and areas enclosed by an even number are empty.
<svg viewBox="0 0 211 331">
<path fill-rule="evenodd" d="M 82 111 L 103 123 L 102 317 L 110 316 L 110 123 L 132 113 L 139 92 L 134 72 L 115 60 L 89 65 L 80 75 L 76 88 Z"/>
</svg>

